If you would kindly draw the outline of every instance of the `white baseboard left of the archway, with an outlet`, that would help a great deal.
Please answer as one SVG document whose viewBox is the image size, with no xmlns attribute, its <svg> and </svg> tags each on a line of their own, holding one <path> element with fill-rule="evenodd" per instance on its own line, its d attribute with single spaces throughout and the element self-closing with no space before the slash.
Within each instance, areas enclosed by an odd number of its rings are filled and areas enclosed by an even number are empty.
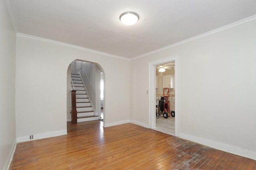
<svg viewBox="0 0 256 170">
<path fill-rule="evenodd" d="M 61 135 L 67 135 L 67 129 L 60 130 L 60 131 L 51 131 L 51 132 L 45 132 L 45 133 L 39 133 L 39 134 L 32 134 L 34 139 L 30 139 L 30 135 L 28 136 L 22 136 L 22 137 L 17 137 L 16 142 L 26 142 L 26 141 L 34 141 L 37 139 L 44 139 L 48 137 L 56 137 L 56 136 L 61 136 Z"/>
</svg>

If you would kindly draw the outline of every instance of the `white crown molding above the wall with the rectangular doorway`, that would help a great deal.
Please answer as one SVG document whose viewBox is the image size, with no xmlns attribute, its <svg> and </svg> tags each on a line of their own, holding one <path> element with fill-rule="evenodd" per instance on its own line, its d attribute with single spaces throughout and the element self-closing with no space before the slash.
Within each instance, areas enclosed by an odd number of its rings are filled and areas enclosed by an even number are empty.
<svg viewBox="0 0 256 170">
<path fill-rule="evenodd" d="M 223 27 L 219 27 L 219 28 L 217 28 L 217 29 L 213 29 L 212 31 L 208 31 L 208 32 L 202 33 L 202 34 L 200 34 L 200 35 L 196 35 L 196 36 L 194 36 L 194 37 L 191 37 L 191 38 L 185 39 L 185 40 L 183 40 L 183 41 L 180 41 L 180 42 L 178 42 L 178 43 L 174 43 L 174 44 L 172 44 L 172 45 L 168 45 L 168 46 L 166 46 L 166 47 L 163 47 L 163 48 L 160 48 L 160 49 L 156 49 L 156 50 L 154 50 L 154 51 L 150 51 L 150 52 L 144 53 L 144 54 L 142 54 L 142 55 L 138 55 L 137 57 L 134 57 L 134 58 L 130 59 L 130 61 L 131 61 L 131 60 L 135 60 L 135 59 L 139 59 L 139 58 L 141 58 L 141 57 L 146 57 L 146 56 L 148 56 L 148 55 L 151 55 L 151 54 L 154 54 L 154 53 L 157 53 L 157 52 L 160 52 L 160 51 L 164 51 L 164 50 L 166 50 L 166 49 L 170 49 L 170 48 L 172 48 L 172 47 L 176 47 L 176 46 L 178 46 L 178 45 L 181 45 L 181 44 L 184 44 L 184 43 L 193 41 L 193 40 L 195 40 L 195 39 L 199 39 L 199 38 L 202 38 L 202 37 L 206 37 L 206 36 L 208 36 L 208 35 L 211 35 L 211 34 L 214 34 L 214 33 L 220 32 L 220 31 L 223 31 L 223 30 L 225 30 L 225 29 L 229 29 L 229 28 L 234 27 L 234 26 L 237 26 L 237 25 L 241 25 L 241 24 L 246 23 L 246 22 L 254 21 L 254 20 L 256 20 L 256 15 L 250 16 L 250 17 L 248 17 L 248 18 L 244 18 L 244 19 L 242 19 L 242 20 L 235 21 L 235 22 L 230 23 L 230 24 L 228 24 L 228 25 L 225 25 L 225 26 L 223 26 Z"/>
</svg>

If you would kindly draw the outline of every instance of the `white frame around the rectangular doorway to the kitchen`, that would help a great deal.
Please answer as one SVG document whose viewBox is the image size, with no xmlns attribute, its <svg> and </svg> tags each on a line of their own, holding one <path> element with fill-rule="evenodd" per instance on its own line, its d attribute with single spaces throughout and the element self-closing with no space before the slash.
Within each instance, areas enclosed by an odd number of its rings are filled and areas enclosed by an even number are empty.
<svg viewBox="0 0 256 170">
<path fill-rule="evenodd" d="M 175 136 L 180 133 L 180 77 L 178 55 L 149 63 L 149 128 L 156 128 L 156 65 L 175 62 Z"/>
</svg>

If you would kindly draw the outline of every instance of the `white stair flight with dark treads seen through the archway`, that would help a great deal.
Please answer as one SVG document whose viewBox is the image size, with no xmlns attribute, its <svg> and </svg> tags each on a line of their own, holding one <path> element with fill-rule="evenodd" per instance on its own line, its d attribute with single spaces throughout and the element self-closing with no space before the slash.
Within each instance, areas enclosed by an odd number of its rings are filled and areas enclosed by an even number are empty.
<svg viewBox="0 0 256 170">
<path fill-rule="evenodd" d="M 76 111 L 77 111 L 77 122 L 98 120 L 98 115 L 92 109 L 92 105 L 84 88 L 84 84 L 80 77 L 80 74 L 71 74 L 71 79 L 76 90 Z M 71 86 L 73 88 L 71 82 Z"/>
</svg>

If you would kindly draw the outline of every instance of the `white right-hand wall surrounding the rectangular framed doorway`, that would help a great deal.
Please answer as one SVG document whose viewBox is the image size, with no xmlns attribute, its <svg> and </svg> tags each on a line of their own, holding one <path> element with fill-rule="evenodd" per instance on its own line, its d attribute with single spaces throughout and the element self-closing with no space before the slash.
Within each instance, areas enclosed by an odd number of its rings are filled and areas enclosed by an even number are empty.
<svg viewBox="0 0 256 170">
<path fill-rule="evenodd" d="M 131 61 L 131 119 L 148 125 L 150 61 L 180 58 L 180 137 L 256 159 L 256 21 Z"/>
</svg>

